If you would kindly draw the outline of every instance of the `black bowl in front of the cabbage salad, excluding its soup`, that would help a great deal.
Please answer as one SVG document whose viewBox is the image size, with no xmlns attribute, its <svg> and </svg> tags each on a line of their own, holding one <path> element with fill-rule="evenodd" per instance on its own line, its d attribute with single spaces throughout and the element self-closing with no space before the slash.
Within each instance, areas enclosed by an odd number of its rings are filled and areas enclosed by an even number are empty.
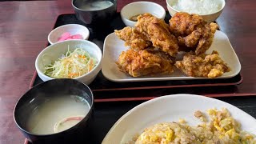
<svg viewBox="0 0 256 144">
<path fill-rule="evenodd" d="M 78 95 L 90 105 L 86 117 L 68 130 L 55 134 L 32 134 L 27 130 L 27 121 L 37 106 L 47 99 L 61 95 Z M 62 78 L 42 82 L 22 95 L 14 108 L 14 121 L 22 133 L 32 143 L 84 143 L 90 140 L 94 109 L 94 95 L 90 88 L 74 79 Z"/>
</svg>

